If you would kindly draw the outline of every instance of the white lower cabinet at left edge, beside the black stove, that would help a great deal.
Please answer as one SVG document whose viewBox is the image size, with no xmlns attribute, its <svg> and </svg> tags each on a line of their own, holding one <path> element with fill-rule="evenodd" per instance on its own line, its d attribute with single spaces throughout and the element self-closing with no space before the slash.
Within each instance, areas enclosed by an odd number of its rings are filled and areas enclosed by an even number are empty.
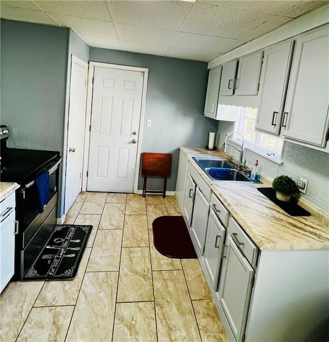
<svg viewBox="0 0 329 342">
<path fill-rule="evenodd" d="M 15 193 L 0 203 L 0 292 L 14 275 Z"/>
</svg>

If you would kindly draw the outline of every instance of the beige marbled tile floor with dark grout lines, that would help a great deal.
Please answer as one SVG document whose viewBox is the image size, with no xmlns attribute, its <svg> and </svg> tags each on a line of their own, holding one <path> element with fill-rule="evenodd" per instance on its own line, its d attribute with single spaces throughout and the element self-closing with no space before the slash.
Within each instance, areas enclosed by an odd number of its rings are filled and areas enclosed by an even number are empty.
<svg viewBox="0 0 329 342">
<path fill-rule="evenodd" d="M 77 276 L 10 282 L 0 340 L 227 341 L 198 260 L 154 248 L 162 215 L 180 215 L 174 197 L 81 193 L 65 221 L 94 226 Z"/>
</svg>

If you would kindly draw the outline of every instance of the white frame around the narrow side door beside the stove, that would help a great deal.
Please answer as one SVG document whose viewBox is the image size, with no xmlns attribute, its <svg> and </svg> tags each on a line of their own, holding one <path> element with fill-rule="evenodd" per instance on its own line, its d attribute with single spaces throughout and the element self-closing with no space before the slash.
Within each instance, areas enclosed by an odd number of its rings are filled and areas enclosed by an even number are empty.
<svg viewBox="0 0 329 342">
<path fill-rule="evenodd" d="M 64 205 L 63 205 L 63 209 L 64 209 L 64 215 L 67 214 L 69 208 L 67 208 L 67 211 L 66 211 L 66 182 L 67 182 L 67 159 L 68 159 L 68 134 L 69 134 L 69 131 L 68 131 L 68 127 L 69 127 L 69 120 L 70 120 L 70 116 L 69 116 L 69 113 L 70 113 L 70 95 L 71 95 L 71 84 L 72 84 L 72 64 L 73 63 L 76 63 L 76 64 L 79 64 L 80 66 L 82 67 L 85 67 L 86 68 L 86 81 L 88 79 L 88 63 L 81 60 L 79 57 L 77 57 L 75 54 L 71 54 L 71 65 L 70 65 L 70 82 L 69 82 L 69 100 L 68 100 L 68 110 L 67 110 L 67 141 L 66 141 L 66 158 L 65 158 L 65 194 L 64 194 Z M 86 125 L 86 103 L 87 103 L 87 84 L 85 83 L 85 88 L 84 88 L 84 115 L 83 115 L 83 129 L 85 129 L 85 125 Z M 85 139 L 85 134 L 82 132 L 82 139 L 83 139 L 83 142 L 82 142 L 82 156 L 81 156 L 81 165 L 80 165 L 80 173 L 83 175 L 83 160 L 84 160 L 84 139 Z M 82 179 L 81 179 L 81 188 L 82 188 Z"/>
</svg>

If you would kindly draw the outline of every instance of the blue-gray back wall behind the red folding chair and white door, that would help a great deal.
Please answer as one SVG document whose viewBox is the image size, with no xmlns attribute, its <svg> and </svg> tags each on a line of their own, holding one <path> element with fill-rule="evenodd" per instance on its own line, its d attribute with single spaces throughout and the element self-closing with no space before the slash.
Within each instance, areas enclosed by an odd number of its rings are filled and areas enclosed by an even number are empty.
<svg viewBox="0 0 329 342">
<path fill-rule="evenodd" d="M 89 60 L 149 69 L 142 152 L 172 153 L 167 190 L 175 191 L 179 146 L 206 146 L 217 121 L 203 115 L 207 63 L 90 47 Z M 152 127 L 146 127 L 146 120 Z M 162 178 L 148 179 L 148 189 L 161 189 Z M 138 188 L 142 188 L 139 176 Z"/>
</svg>

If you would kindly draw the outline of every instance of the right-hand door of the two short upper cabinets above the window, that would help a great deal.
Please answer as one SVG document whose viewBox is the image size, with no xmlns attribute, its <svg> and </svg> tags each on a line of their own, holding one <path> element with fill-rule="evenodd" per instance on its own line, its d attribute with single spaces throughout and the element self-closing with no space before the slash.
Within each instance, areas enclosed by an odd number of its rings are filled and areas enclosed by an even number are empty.
<svg viewBox="0 0 329 342">
<path fill-rule="evenodd" d="M 257 95 L 263 51 L 240 58 L 235 81 L 235 95 Z"/>
</svg>

